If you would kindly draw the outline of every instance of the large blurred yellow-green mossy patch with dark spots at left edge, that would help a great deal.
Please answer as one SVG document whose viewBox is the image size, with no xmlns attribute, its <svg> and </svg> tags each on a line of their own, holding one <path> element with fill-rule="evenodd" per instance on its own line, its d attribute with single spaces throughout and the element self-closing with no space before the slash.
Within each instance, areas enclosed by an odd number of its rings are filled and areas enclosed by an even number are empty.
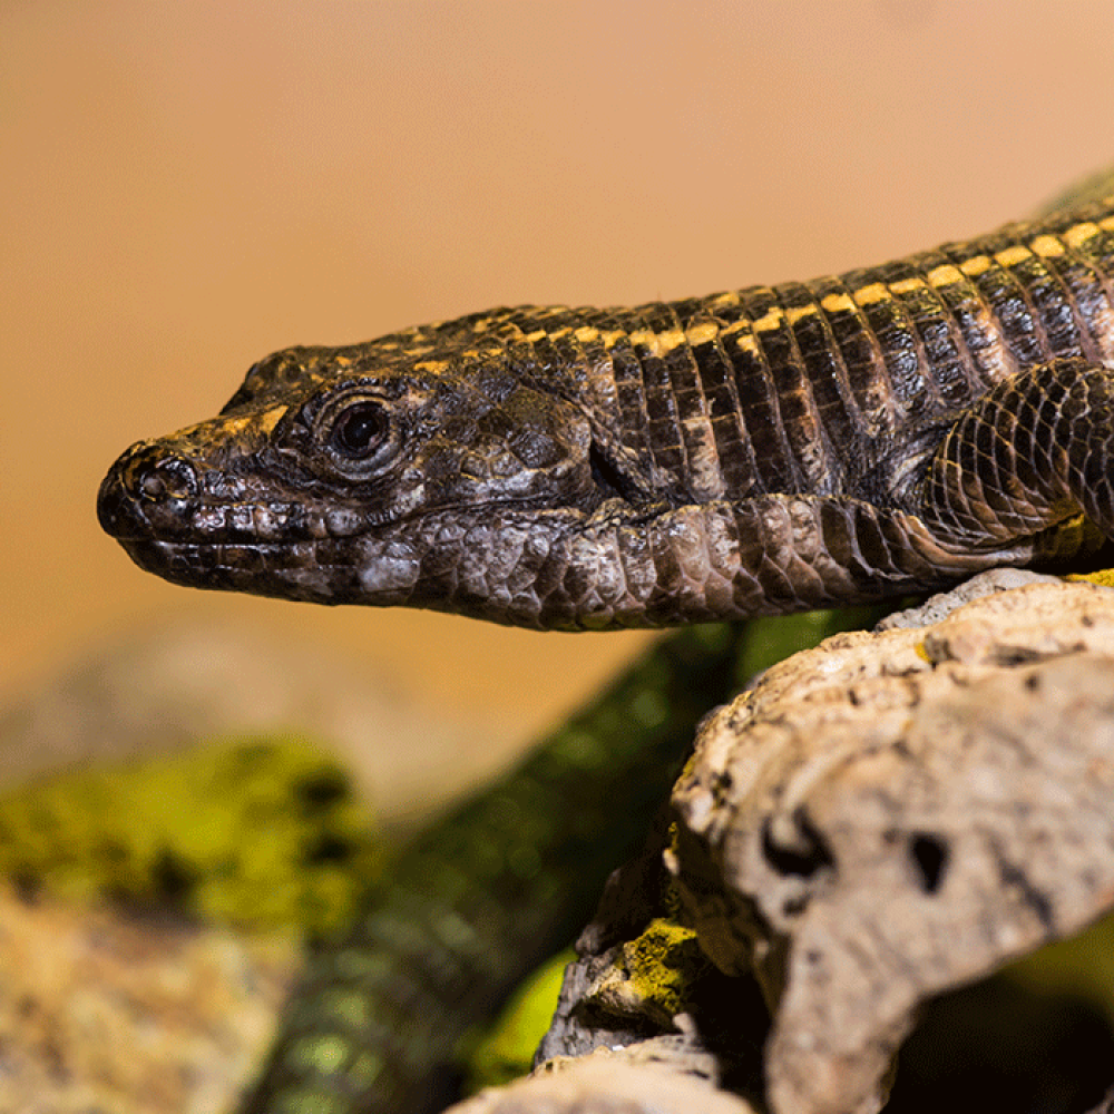
<svg viewBox="0 0 1114 1114">
<path fill-rule="evenodd" d="M 79 899 L 328 930 L 380 853 L 344 771 L 295 737 L 227 740 L 0 798 L 0 872 Z"/>
</svg>

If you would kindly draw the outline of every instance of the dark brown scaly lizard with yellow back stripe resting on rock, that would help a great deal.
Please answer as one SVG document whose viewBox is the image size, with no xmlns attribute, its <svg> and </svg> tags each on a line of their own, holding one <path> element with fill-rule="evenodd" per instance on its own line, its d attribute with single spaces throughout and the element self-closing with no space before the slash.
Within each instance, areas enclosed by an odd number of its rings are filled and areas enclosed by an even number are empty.
<svg viewBox="0 0 1114 1114">
<path fill-rule="evenodd" d="M 316 603 L 576 629 L 847 606 L 1114 535 L 1112 359 L 1107 197 L 809 283 L 286 349 L 217 418 L 125 452 L 98 514 L 175 583 Z M 674 696 L 693 681 L 668 675 Z M 399 910 L 437 853 L 416 851 Z M 364 942 L 411 974 L 429 947 L 426 981 L 453 967 L 444 931 L 402 940 L 395 912 Z M 346 961 L 350 986 L 385 985 Z M 418 989 L 393 993 L 436 1010 Z M 299 1065 L 305 1032 L 252 1111 L 420 1108 L 420 1065 L 351 1042 L 331 1062 L 328 1040 Z"/>
</svg>

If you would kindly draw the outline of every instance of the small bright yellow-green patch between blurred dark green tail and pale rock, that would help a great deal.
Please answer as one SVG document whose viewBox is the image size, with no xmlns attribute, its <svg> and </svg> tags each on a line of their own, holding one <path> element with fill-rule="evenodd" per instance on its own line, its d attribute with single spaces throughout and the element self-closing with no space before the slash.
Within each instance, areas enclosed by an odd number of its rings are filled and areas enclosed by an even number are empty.
<svg viewBox="0 0 1114 1114">
<path fill-rule="evenodd" d="M 566 948 L 515 991 L 495 1024 L 468 1056 L 468 1091 L 501 1086 L 530 1071 L 534 1053 L 549 1028 L 565 968 L 576 958 Z"/>
</svg>

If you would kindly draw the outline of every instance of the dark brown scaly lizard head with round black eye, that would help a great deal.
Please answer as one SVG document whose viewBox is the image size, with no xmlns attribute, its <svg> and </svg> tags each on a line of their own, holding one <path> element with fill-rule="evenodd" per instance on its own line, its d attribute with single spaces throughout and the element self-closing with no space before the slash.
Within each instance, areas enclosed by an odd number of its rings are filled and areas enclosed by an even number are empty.
<svg viewBox="0 0 1114 1114">
<path fill-rule="evenodd" d="M 218 417 L 116 461 L 102 527 L 193 587 L 594 625 L 605 558 L 584 537 L 629 506 L 606 431 L 506 345 L 430 344 L 437 328 L 268 356 Z"/>
</svg>

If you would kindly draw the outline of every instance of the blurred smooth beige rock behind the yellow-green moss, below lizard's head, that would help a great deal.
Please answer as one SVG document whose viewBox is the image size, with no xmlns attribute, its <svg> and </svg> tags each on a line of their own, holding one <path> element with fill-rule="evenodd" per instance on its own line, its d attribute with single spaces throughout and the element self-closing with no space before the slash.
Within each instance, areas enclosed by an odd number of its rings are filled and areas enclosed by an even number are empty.
<svg viewBox="0 0 1114 1114">
<path fill-rule="evenodd" d="M 329 746 L 384 824 L 412 823 L 519 745 L 326 648 L 165 619 L 10 698 L 0 710 L 0 790 L 199 740 L 275 732 Z"/>
</svg>

